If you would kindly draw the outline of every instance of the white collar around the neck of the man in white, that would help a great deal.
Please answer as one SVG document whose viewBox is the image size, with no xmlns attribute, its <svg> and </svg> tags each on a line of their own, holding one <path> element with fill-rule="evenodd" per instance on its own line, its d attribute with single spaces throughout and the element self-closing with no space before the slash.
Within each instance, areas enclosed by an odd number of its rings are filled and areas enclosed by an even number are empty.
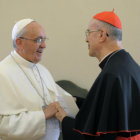
<svg viewBox="0 0 140 140">
<path fill-rule="evenodd" d="M 11 52 L 12 57 L 21 65 L 24 65 L 26 67 L 33 68 L 35 66 L 34 63 L 27 61 L 23 57 L 21 57 L 15 50 Z"/>
</svg>

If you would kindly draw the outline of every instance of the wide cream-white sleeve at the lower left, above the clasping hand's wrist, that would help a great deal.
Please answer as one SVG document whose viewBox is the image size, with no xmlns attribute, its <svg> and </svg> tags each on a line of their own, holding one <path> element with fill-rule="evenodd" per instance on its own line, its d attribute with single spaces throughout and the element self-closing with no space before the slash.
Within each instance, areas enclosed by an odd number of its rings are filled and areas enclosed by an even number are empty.
<svg viewBox="0 0 140 140">
<path fill-rule="evenodd" d="M 36 139 L 45 135 L 43 111 L 22 112 L 17 115 L 0 115 L 0 138 Z"/>
</svg>

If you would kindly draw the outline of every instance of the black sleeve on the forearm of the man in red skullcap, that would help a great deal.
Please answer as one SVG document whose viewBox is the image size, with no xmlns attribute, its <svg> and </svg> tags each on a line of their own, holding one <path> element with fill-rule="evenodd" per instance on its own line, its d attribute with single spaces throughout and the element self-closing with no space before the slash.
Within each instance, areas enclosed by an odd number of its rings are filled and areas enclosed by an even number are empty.
<svg viewBox="0 0 140 140">
<path fill-rule="evenodd" d="M 63 140 L 84 140 L 83 135 L 73 130 L 75 119 L 65 117 L 62 121 Z"/>
</svg>

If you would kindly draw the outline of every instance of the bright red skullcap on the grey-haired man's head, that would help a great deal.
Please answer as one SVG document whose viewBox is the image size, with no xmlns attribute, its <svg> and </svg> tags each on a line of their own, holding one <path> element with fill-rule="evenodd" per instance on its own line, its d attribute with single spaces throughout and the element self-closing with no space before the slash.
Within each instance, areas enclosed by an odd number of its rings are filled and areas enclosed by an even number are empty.
<svg viewBox="0 0 140 140">
<path fill-rule="evenodd" d="M 121 21 L 114 11 L 104 11 L 96 14 L 93 18 L 107 22 L 122 30 Z"/>
</svg>

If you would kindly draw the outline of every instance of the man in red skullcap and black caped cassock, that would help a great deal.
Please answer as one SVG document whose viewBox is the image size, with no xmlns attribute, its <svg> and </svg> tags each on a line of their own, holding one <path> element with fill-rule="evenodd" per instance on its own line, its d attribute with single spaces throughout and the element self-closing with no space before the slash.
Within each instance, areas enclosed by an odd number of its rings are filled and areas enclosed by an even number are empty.
<svg viewBox="0 0 140 140">
<path fill-rule="evenodd" d="M 89 55 L 101 73 L 75 119 L 57 106 L 64 140 L 140 140 L 140 67 L 122 48 L 122 26 L 111 12 L 96 14 L 86 31 Z"/>
</svg>

